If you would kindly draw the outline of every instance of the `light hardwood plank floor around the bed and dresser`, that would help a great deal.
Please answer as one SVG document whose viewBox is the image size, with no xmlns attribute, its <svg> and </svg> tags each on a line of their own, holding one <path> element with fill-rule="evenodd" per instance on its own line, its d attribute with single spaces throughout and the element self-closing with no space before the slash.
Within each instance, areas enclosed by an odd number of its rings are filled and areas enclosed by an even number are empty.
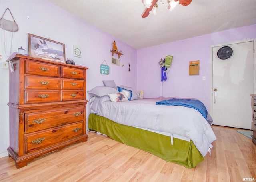
<svg viewBox="0 0 256 182">
<path fill-rule="evenodd" d="M 1 182 L 242 182 L 256 180 L 256 145 L 235 129 L 212 126 L 217 140 L 211 156 L 192 169 L 166 162 L 107 136 L 41 156 L 20 169 L 0 158 Z"/>
</svg>

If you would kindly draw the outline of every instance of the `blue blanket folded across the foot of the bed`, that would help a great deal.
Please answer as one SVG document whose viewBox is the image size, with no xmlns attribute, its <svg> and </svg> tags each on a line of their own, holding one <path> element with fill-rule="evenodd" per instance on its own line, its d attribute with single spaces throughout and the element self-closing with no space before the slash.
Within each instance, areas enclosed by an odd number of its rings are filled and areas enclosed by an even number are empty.
<svg viewBox="0 0 256 182">
<path fill-rule="evenodd" d="M 171 98 L 169 100 L 162 100 L 162 101 L 156 102 L 156 105 L 172 105 L 172 106 L 184 106 L 184 107 L 188 107 L 188 108 L 194 108 L 194 109 L 198 110 L 204 116 L 204 118 L 207 120 L 206 107 L 199 100 Z"/>
</svg>

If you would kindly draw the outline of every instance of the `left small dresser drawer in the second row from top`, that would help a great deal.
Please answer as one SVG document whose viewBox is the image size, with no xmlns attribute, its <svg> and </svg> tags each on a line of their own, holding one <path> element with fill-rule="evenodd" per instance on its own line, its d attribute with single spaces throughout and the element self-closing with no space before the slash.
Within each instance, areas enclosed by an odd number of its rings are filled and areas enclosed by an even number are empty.
<svg viewBox="0 0 256 182">
<path fill-rule="evenodd" d="M 25 76 L 25 88 L 28 89 L 59 89 L 60 78 L 43 76 Z"/>
</svg>

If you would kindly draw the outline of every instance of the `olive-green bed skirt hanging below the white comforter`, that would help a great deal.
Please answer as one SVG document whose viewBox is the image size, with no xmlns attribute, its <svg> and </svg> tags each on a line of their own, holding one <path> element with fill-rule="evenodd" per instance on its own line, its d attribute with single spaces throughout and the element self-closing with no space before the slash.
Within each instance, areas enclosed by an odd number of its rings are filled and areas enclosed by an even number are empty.
<svg viewBox="0 0 256 182">
<path fill-rule="evenodd" d="M 170 136 L 118 124 L 97 114 L 89 115 L 88 128 L 186 168 L 193 168 L 204 160 L 191 140 L 173 138 L 171 145 Z"/>
</svg>

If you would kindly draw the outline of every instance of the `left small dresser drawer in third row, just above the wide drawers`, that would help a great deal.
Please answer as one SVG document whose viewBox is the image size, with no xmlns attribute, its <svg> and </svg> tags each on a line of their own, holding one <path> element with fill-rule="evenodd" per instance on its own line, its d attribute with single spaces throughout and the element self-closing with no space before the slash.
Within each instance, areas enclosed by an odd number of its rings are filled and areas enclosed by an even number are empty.
<svg viewBox="0 0 256 182">
<path fill-rule="evenodd" d="M 25 103 L 58 102 L 59 90 L 25 90 Z"/>
</svg>

